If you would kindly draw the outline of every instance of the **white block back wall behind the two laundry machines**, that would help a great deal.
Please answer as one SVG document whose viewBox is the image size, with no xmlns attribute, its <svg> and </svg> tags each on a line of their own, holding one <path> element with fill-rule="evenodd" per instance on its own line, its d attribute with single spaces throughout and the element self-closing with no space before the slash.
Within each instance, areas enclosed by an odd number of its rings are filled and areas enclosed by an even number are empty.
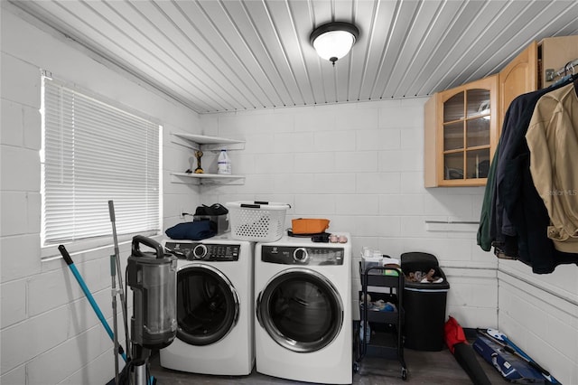
<svg viewBox="0 0 578 385">
<path fill-rule="evenodd" d="M 246 140 L 230 151 L 243 185 L 202 187 L 213 202 L 287 202 L 285 228 L 299 217 L 327 218 L 331 232 L 350 232 L 354 316 L 363 246 L 398 258 L 427 251 L 440 259 L 452 289 L 448 314 L 464 325 L 496 325 L 497 260 L 476 245 L 483 188 L 424 188 L 425 99 L 282 108 L 201 116 L 207 135 Z M 467 278 L 466 278 L 467 277 Z M 472 286 L 474 284 L 474 286 Z M 477 288 L 492 288 L 480 296 Z"/>
</svg>

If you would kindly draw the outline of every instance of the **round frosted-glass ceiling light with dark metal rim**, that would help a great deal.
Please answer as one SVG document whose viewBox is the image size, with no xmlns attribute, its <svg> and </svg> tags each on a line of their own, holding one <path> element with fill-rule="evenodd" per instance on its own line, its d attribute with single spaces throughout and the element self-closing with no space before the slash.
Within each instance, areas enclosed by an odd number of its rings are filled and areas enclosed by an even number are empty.
<svg viewBox="0 0 578 385">
<path fill-rule="evenodd" d="M 311 33 L 309 40 L 315 51 L 322 59 L 335 61 L 350 52 L 351 47 L 358 40 L 359 29 L 351 23 L 332 22 L 320 25 Z"/>
</svg>

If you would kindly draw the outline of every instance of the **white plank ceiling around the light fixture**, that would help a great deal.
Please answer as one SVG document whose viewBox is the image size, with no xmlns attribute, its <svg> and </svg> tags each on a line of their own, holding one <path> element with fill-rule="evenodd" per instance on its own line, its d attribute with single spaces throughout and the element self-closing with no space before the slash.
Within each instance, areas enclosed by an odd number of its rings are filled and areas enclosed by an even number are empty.
<svg viewBox="0 0 578 385">
<path fill-rule="evenodd" d="M 578 34 L 574 0 L 12 3 L 199 113 L 426 96 Z M 360 32 L 335 67 L 309 42 L 331 21 Z"/>
</svg>

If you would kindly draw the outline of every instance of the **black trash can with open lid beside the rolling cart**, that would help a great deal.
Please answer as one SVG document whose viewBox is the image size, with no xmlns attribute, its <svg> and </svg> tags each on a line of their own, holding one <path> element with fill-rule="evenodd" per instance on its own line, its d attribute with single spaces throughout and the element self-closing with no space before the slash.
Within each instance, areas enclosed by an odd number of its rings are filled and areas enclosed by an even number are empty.
<svg viewBox="0 0 578 385">
<path fill-rule="evenodd" d="M 432 254 L 408 252 L 401 255 L 401 269 L 406 276 L 404 287 L 404 346 L 417 351 L 439 352 L 443 349 L 445 305 L 450 283 Z M 411 273 L 426 275 L 433 269 L 439 282 L 413 282 Z M 420 274 L 421 273 L 421 274 Z"/>
</svg>

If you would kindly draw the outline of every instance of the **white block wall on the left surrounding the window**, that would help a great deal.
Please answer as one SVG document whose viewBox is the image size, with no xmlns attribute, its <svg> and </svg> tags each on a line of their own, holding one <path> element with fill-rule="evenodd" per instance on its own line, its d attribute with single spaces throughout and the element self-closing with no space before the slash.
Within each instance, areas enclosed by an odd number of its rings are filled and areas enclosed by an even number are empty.
<svg viewBox="0 0 578 385">
<path fill-rule="evenodd" d="M 56 248 L 40 244 L 41 70 L 163 125 L 163 228 L 180 221 L 182 207 L 199 202 L 198 188 L 170 183 L 190 154 L 168 140 L 174 131 L 199 133 L 199 117 L 46 26 L 23 20 L 14 5 L 3 1 L 0 11 L 0 383 L 102 385 L 114 378 L 113 343 Z M 112 327 L 111 243 L 112 235 L 94 249 L 69 250 Z M 125 266 L 128 243 L 120 254 Z M 126 346 L 122 324 L 119 314 Z"/>
</svg>

